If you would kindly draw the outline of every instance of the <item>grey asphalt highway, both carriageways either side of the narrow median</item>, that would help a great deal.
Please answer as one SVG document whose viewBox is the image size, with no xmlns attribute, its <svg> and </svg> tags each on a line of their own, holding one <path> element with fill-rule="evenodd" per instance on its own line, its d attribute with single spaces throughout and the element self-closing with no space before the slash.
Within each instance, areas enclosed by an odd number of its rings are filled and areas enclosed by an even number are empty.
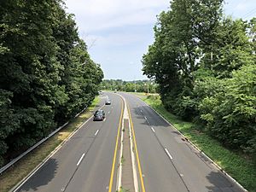
<svg viewBox="0 0 256 192">
<path fill-rule="evenodd" d="M 137 144 L 140 191 L 242 191 L 137 96 L 119 94 L 127 103 Z M 15 191 L 116 191 L 125 104 L 118 94 L 101 96 L 98 108 L 107 118 L 97 122 L 90 119 Z M 104 105 L 107 96 L 112 101 L 109 106 Z"/>
</svg>

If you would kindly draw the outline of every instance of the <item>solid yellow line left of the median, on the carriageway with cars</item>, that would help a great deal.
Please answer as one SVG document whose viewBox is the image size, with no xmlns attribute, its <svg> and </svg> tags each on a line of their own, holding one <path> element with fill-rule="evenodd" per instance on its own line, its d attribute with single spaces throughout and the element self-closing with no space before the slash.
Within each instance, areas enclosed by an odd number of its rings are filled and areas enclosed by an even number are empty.
<svg viewBox="0 0 256 192">
<path fill-rule="evenodd" d="M 122 100 L 122 110 L 121 110 L 121 115 L 119 118 L 119 129 L 118 129 L 118 134 L 116 137 L 116 143 L 115 143 L 115 148 L 114 148 L 114 153 L 113 153 L 113 164 L 112 164 L 112 169 L 111 169 L 111 175 L 110 175 L 110 180 L 108 184 L 108 192 L 112 192 L 112 185 L 113 185 L 113 172 L 114 172 L 114 166 L 115 166 L 115 160 L 116 160 L 116 154 L 118 150 L 118 145 L 119 145 L 119 134 L 120 134 L 120 127 L 122 125 L 122 119 L 123 119 L 123 113 L 124 113 L 124 102 Z"/>
</svg>

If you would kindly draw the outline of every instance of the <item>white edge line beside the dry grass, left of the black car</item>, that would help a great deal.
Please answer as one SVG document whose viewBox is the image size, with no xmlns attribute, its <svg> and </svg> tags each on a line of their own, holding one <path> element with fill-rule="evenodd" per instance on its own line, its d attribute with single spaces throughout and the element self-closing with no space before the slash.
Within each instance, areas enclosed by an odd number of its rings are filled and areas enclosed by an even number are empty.
<svg viewBox="0 0 256 192">
<path fill-rule="evenodd" d="M 104 105 L 102 105 L 101 108 L 103 108 L 103 107 L 104 107 Z M 99 108 L 99 109 L 101 109 L 101 108 Z M 93 117 L 93 114 L 92 114 L 92 115 L 90 116 L 90 118 L 87 119 L 82 125 L 80 125 L 79 128 L 77 128 L 76 131 L 73 131 L 73 133 L 71 133 L 63 142 L 61 142 L 61 144 L 60 144 L 58 147 L 56 147 L 56 148 L 55 148 L 38 166 L 36 166 L 36 167 L 32 170 L 32 172 L 28 173 L 28 174 L 27 174 L 27 177 L 23 178 L 19 183 L 17 183 L 17 184 L 15 185 L 15 187 L 13 187 L 12 189 L 10 189 L 9 191 L 16 192 L 18 189 L 20 189 L 20 187 L 21 187 L 24 183 L 26 183 L 26 181 L 27 181 L 28 179 L 30 179 L 36 172 L 38 172 L 38 170 L 39 170 L 42 166 L 44 166 L 44 163 L 46 163 L 55 153 L 57 153 L 57 151 L 63 146 L 63 144 L 64 144 L 64 143 L 67 143 L 67 141 L 68 141 L 71 137 L 73 137 L 73 135 L 74 135 L 77 131 L 79 131 L 79 129 L 80 129 L 82 126 L 84 126 L 90 119 L 92 119 L 92 117 Z"/>
</svg>

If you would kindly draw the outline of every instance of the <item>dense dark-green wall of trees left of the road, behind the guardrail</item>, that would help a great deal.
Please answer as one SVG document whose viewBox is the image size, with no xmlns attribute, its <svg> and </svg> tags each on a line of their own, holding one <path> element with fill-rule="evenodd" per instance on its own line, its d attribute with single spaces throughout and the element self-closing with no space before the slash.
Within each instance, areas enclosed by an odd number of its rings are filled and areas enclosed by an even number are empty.
<svg viewBox="0 0 256 192">
<path fill-rule="evenodd" d="M 61 0 L 0 6 L 0 166 L 90 105 L 103 78 Z"/>
</svg>

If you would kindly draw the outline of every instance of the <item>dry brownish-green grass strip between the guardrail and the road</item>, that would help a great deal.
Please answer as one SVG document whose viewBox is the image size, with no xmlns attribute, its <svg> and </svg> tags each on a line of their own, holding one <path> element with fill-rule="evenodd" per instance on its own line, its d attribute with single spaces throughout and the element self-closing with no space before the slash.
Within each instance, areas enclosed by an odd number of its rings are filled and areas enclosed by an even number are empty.
<svg viewBox="0 0 256 192">
<path fill-rule="evenodd" d="M 59 146 L 73 131 L 79 128 L 85 120 L 89 119 L 92 111 L 96 108 L 99 98 L 91 103 L 84 113 L 81 113 L 79 117 L 72 119 L 70 123 L 64 127 L 61 131 L 50 137 L 42 145 L 35 148 L 30 154 L 27 154 L 23 159 L 19 160 L 9 170 L 3 172 L 0 176 L 0 191 L 8 192 L 15 184 L 19 183 L 24 177 L 26 177 L 32 170 L 38 166 L 57 146 Z"/>
</svg>

